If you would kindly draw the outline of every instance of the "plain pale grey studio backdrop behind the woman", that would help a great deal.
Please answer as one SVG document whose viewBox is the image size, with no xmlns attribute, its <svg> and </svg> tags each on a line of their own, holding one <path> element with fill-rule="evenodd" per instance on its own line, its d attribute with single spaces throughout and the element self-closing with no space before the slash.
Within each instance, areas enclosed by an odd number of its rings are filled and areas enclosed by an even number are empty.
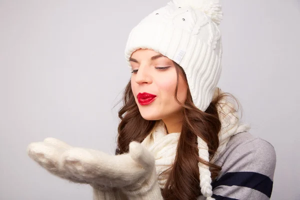
<svg viewBox="0 0 300 200">
<path fill-rule="evenodd" d="M 26 154 L 56 137 L 114 153 L 131 28 L 168 0 L 0 0 L 0 199 L 92 199 Z M 300 199 L 299 0 L 226 0 L 218 86 L 275 148 L 271 199 Z"/>
</svg>

